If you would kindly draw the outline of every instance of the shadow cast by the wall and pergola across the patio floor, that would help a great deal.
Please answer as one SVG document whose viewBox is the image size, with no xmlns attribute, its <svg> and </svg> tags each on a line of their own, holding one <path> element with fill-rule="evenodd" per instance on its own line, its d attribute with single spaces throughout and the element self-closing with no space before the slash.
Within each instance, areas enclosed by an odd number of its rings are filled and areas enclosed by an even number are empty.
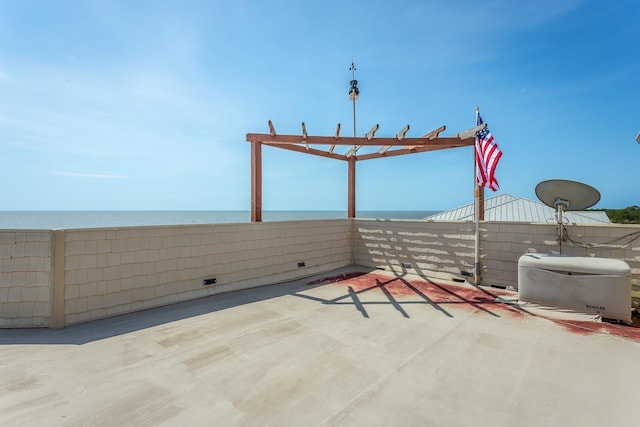
<svg viewBox="0 0 640 427">
<path fill-rule="evenodd" d="M 375 269 L 369 269 L 366 267 L 350 266 L 334 270 L 333 272 L 319 274 L 291 282 L 212 295 L 192 301 L 71 325 L 64 329 L 0 329 L 0 345 L 82 345 L 208 313 L 214 313 L 216 311 L 287 295 L 305 298 L 321 304 L 352 305 L 364 318 L 370 317 L 366 309 L 368 305 L 390 306 L 398 311 L 398 313 L 403 317 L 409 318 L 410 316 L 404 307 L 414 304 L 429 306 L 442 313 L 443 316 L 449 318 L 453 318 L 454 315 L 445 307 L 460 305 L 474 308 L 493 317 L 501 316 L 495 313 L 495 311 L 489 310 L 489 308 L 497 309 L 499 307 L 503 307 L 503 310 L 508 307 L 513 311 L 522 313 L 523 315 L 526 314 L 533 317 L 546 317 L 532 313 L 515 303 L 497 303 L 496 301 L 500 299 L 499 292 L 493 293 L 479 286 L 471 285 L 467 286 L 465 289 L 461 286 L 448 286 L 446 284 L 436 283 L 422 276 L 419 281 L 415 281 L 405 278 L 405 274 L 395 274 L 392 277 L 385 277 L 376 275 L 375 271 Z M 339 274 L 335 275 L 336 272 L 339 272 Z M 374 274 L 369 275 L 370 273 Z M 333 274 L 333 276 L 331 276 L 331 274 Z M 314 280 L 314 278 L 319 279 Z M 359 284 L 357 283 L 358 278 L 361 280 L 361 283 Z M 353 279 L 355 279 L 355 281 Z M 370 285 L 368 284 L 369 282 L 371 283 Z M 426 287 L 425 283 L 427 284 Z M 339 284 L 344 286 L 346 293 L 332 299 L 322 299 L 315 296 L 305 295 L 303 293 L 303 291 L 313 289 L 315 287 L 323 287 L 329 284 Z M 400 284 L 405 290 L 405 292 L 402 293 L 403 296 L 414 295 L 418 296 L 419 300 L 406 299 L 404 297 L 401 299 L 397 298 L 397 291 Z M 430 289 L 434 291 L 435 294 L 431 294 L 429 291 Z M 363 300 L 363 294 L 371 291 L 381 292 L 386 297 L 386 300 L 380 300 L 379 296 L 375 301 Z M 437 298 L 434 296 L 436 294 Z M 443 295 L 448 297 L 443 298 Z M 640 328 L 638 327 L 640 325 L 638 325 L 637 322 L 631 327 L 626 325 L 607 325 L 593 322 L 580 323 L 563 320 L 554 320 L 554 322 L 565 327 L 575 329 L 578 332 L 601 332 L 640 340 Z"/>
</svg>

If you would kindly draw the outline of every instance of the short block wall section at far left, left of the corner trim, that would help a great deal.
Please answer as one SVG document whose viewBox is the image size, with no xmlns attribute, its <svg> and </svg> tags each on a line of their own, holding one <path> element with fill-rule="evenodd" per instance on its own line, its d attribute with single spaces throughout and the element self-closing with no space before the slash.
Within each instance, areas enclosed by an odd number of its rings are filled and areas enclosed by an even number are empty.
<svg viewBox="0 0 640 427">
<path fill-rule="evenodd" d="M 48 326 L 51 232 L 0 230 L 0 327 Z"/>
</svg>

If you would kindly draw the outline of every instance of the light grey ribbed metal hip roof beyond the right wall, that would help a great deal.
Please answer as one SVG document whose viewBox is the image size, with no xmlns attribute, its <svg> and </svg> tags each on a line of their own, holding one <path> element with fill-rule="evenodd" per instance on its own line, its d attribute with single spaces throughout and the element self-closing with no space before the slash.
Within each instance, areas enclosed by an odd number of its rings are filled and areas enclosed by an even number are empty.
<svg viewBox="0 0 640 427">
<path fill-rule="evenodd" d="M 565 222 L 574 224 L 611 224 L 604 211 L 567 211 Z M 433 221 L 473 221 L 473 203 L 425 218 Z M 556 222 L 555 209 L 533 200 L 501 194 L 484 201 L 485 221 Z"/>
</svg>

